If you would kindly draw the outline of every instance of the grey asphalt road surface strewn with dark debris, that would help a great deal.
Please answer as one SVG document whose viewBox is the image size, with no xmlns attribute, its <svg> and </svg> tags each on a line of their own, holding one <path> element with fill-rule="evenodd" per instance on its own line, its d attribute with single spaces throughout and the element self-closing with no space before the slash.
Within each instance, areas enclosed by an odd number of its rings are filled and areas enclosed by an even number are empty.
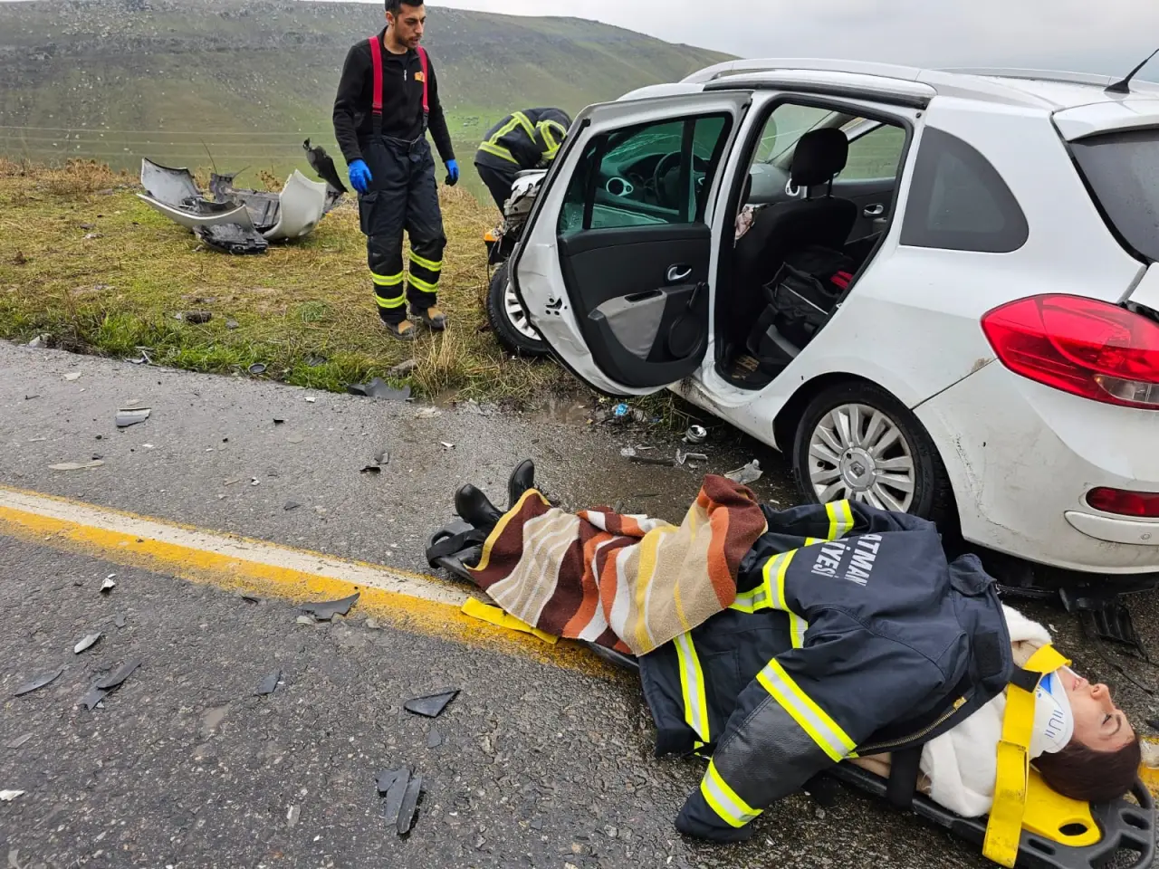
<svg viewBox="0 0 1159 869">
<path fill-rule="evenodd" d="M 624 502 L 677 520 L 699 484 L 687 469 L 619 454 L 642 437 L 657 450 L 673 444 L 606 426 L 467 408 L 416 419 L 413 406 L 7 345 L 0 371 L 0 483 L 399 568 L 425 569 L 423 540 L 459 483 L 498 494 L 522 458 L 537 459 L 573 507 Z M 131 400 L 152 416 L 117 431 L 114 415 Z M 708 469 L 756 454 L 746 439 L 726 450 L 716 437 Z M 380 450 L 392 453 L 386 473 L 360 475 Z M 103 466 L 49 470 L 94 453 Z M 792 499 L 783 475 L 756 488 Z M 286 512 L 287 499 L 306 507 Z M 102 596 L 114 571 L 117 587 Z M 291 604 L 255 605 L 5 538 L 0 612 L 0 746 L 30 735 L 0 747 L 0 789 L 27 791 L 0 803 L 0 853 L 19 849 L 21 869 L 989 866 L 948 833 L 847 790 L 826 809 L 785 801 L 746 845 L 680 838 L 672 819 L 701 768 L 651 757 L 651 724 L 626 676 L 372 629 L 357 609 L 344 622 L 299 625 Z M 1088 674 L 1122 685 L 1067 616 L 1030 612 L 1057 627 Z M 1159 648 L 1154 599 L 1135 612 Z M 74 655 L 97 630 L 99 643 Z M 76 704 L 136 656 L 141 667 L 103 708 Z M 49 687 L 12 696 L 61 664 Z M 255 696 L 276 670 L 283 684 Z M 444 687 L 461 693 L 433 722 L 402 709 Z M 1156 714 L 1142 692 L 1120 699 L 1137 720 Z M 432 728 L 442 744 L 428 747 Z M 402 765 L 425 787 L 404 839 L 374 787 Z"/>
</svg>

